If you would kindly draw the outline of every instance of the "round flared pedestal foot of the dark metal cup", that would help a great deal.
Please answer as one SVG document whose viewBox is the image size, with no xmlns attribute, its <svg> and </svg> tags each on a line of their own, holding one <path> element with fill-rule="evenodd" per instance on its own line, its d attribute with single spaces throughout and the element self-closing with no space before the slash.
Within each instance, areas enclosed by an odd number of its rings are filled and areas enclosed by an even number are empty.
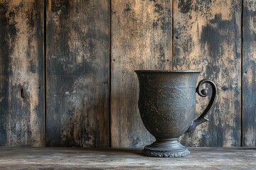
<svg viewBox="0 0 256 170">
<path fill-rule="evenodd" d="M 186 157 L 190 152 L 177 139 L 156 139 L 142 150 L 147 157 Z"/>
</svg>

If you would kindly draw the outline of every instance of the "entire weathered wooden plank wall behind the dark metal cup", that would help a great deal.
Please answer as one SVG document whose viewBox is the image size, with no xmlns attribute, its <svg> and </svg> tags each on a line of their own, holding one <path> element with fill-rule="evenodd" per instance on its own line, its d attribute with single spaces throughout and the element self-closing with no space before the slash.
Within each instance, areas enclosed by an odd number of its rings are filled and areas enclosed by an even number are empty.
<svg viewBox="0 0 256 170">
<path fill-rule="evenodd" d="M 149 144 L 135 69 L 201 69 L 217 84 L 210 122 L 184 145 L 256 146 L 255 6 L 0 0 L 0 146 Z M 208 99 L 197 101 L 199 115 Z"/>
</svg>

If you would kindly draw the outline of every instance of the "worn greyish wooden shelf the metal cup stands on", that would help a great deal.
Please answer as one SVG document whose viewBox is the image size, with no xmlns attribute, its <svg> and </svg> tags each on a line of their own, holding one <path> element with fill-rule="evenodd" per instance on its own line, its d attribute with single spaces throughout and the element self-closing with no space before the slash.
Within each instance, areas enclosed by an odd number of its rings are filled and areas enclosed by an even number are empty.
<svg viewBox="0 0 256 170">
<path fill-rule="evenodd" d="M 189 157 L 152 158 L 141 148 L 0 147 L 0 169 L 256 169 L 256 147 L 189 150 Z"/>
</svg>

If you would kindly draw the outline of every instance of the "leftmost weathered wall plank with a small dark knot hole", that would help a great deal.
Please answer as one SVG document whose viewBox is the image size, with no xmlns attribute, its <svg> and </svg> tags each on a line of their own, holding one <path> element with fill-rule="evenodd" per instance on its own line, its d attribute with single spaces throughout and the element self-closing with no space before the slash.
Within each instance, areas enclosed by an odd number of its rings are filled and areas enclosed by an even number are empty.
<svg viewBox="0 0 256 170">
<path fill-rule="evenodd" d="M 0 146 L 45 145 L 43 1 L 0 1 Z"/>
</svg>

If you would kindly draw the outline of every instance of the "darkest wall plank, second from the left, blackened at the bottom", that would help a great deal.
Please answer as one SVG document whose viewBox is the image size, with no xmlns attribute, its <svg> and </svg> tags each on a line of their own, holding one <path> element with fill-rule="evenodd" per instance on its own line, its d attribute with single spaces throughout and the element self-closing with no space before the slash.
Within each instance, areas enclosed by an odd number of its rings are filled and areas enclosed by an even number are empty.
<svg viewBox="0 0 256 170">
<path fill-rule="evenodd" d="M 110 1 L 47 1 L 47 146 L 107 147 Z"/>
</svg>

